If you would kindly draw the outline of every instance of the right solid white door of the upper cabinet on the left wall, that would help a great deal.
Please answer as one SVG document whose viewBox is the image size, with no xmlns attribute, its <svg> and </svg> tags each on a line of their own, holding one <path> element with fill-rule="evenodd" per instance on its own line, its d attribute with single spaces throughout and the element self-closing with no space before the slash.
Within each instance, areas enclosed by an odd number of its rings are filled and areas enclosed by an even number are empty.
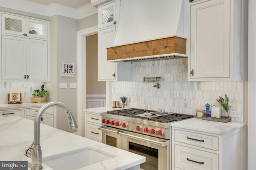
<svg viewBox="0 0 256 170">
<path fill-rule="evenodd" d="M 27 39 L 28 80 L 47 80 L 47 41 Z"/>
</svg>

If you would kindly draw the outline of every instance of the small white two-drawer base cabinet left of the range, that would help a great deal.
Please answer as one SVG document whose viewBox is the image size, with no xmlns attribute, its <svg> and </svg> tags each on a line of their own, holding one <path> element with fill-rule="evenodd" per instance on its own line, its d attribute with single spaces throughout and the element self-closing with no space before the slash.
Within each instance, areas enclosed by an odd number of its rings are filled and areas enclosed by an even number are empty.
<svg viewBox="0 0 256 170">
<path fill-rule="evenodd" d="M 85 112 L 85 137 L 94 141 L 102 142 L 101 116 L 97 113 Z"/>
</svg>

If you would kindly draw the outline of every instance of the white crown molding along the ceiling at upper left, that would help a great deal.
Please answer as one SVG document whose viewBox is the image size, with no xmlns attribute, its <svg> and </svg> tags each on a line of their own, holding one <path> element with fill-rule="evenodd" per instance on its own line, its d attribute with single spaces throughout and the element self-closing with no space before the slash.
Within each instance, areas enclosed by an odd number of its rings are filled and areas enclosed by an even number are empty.
<svg viewBox="0 0 256 170">
<path fill-rule="evenodd" d="M 92 3 L 75 9 L 56 3 L 44 5 L 26 0 L 0 0 L 0 6 L 42 16 L 52 17 L 54 15 L 60 15 L 77 20 L 88 17 L 92 14 L 96 14 L 98 12 L 97 8 L 92 6 Z"/>
</svg>

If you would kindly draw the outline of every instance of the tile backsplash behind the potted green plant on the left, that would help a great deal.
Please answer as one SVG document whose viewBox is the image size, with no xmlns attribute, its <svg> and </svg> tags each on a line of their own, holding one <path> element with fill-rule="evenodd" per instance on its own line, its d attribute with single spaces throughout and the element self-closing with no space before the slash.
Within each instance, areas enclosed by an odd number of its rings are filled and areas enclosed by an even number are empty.
<svg viewBox="0 0 256 170">
<path fill-rule="evenodd" d="M 22 103 L 31 102 L 32 92 L 41 89 L 43 82 L 0 82 L 0 104 L 8 103 L 10 90 L 20 90 Z"/>
</svg>

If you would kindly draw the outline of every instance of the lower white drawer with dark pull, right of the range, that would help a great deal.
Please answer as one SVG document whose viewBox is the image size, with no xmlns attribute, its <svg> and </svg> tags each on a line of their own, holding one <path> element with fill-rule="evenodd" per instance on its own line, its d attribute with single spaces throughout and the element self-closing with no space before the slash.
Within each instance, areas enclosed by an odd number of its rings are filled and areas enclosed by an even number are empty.
<svg viewBox="0 0 256 170">
<path fill-rule="evenodd" d="M 218 154 L 174 145 L 174 166 L 183 170 L 218 170 Z"/>
</svg>

